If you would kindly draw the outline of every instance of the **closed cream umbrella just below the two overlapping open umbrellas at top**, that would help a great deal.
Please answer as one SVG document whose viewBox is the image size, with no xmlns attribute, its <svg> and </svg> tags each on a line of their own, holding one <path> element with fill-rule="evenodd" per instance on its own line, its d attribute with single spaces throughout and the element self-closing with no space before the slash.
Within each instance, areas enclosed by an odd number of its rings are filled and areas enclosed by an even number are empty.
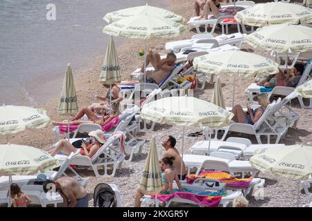
<svg viewBox="0 0 312 221">
<path fill-rule="evenodd" d="M 110 36 L 108 46 L 106 50 L 105 59 L 100 74 L 100 82 L 102 84 L 110 85 L 110 93 L 112 90 L 112 84 L 121 81 L 120 66 L 117 56 L 114 39 Z M 112 96 L 110 96 L 110 106 L 112 103 Z"/>
</svg>

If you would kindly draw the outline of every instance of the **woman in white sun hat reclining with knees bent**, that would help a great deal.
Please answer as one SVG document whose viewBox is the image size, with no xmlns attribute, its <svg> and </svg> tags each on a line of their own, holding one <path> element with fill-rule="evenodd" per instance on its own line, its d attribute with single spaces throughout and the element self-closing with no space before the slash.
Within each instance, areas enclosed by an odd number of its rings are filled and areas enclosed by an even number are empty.
<svg viewBox="0 0 312 221">
<path fill-rule="evenodd" d="M 96 151 L 98 151 L 99 148 L 103 144 L 105 144 L 105 133 L 98 129 L 96 131 L 91 131 L 89 133 L 90 142 L 83 141 L 83 144 L 81 144 L 80 148 L 80 155 L 86 155 L 88 157 L 92 157 Z M 51 148 L 48 153 L 51 154 L 53 157 L 58 154 L 60 151 L 64 152 L 66 155 L 70 155 L 71 152 L 76 153 L 78 151 L 78 148 L 73 146 L 68 140 L 62 139 L 60 140 L 54 148 Z"/>
</svg>

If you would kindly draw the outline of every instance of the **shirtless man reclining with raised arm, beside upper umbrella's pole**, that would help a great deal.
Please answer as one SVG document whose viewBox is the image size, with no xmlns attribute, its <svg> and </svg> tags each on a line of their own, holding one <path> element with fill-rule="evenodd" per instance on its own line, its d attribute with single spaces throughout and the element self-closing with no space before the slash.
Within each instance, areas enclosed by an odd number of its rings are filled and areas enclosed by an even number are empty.
<svg viewBox="0 0 312 221">
<path fill-rule="evenodd" d="M 157 52 L 148 52 L 148 55 L 146 55 L 146 65 L 151 62 L 155 68 L 155 72 L 146 71 L 146 83 L 160 84 L 174 68 L 175 61 L 177 61 L 177 57 L 173 52 L 169 52 L 165 59 L 160 59 Z M 144 72 L 144 68 L 142 72 Z"/>
</svg>

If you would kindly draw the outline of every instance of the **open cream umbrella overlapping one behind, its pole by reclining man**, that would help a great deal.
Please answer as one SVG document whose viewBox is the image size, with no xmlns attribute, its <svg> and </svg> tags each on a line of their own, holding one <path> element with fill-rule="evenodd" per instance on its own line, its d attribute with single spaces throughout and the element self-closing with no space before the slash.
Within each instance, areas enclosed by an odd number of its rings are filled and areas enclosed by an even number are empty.
<svg viewBox="0 0 312 221">
<path fill-rule="evenodd" d="M 146 13 L 110 23 L 104 27 L 103 32 L 130 39 L 144 39 L 144 81 L 146 81 L 146 39 L 177 37 L 187 30 L 187 26 L 181 23 Z"/>
</svg>

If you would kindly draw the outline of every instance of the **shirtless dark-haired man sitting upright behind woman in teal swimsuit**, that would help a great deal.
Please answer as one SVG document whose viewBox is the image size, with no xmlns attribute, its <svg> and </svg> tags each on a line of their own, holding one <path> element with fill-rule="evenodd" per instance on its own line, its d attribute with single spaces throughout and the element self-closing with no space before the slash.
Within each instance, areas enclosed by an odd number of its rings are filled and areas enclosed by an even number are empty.
<svg viewBox="0 0 312 221">
<path fill-rule="evenodd" d="M 169 136 L 164 137 L 164 140 L 162 140 L 162 146 L 164 146 L 166 152 L 162 155 L 162 158 L 164 157 L 175 157 L 175 160 L 173 160 L 173 166 L 177 170 L 177 177 L 179 177 L 179 180 L 185 180 L 185 177 L 187 176 L 187 168 L 185 167 L 185 164 L 183 162 L 182 166 L 182 173 L 181 173 L 181 160 L 179 151 L 177 151 L 177 148 L 175 148 L 175 143 L 177 141 L 175 140 L 175 137 Z M 159 162 L 161 163 L 161 162 Z"/>
</svg>

